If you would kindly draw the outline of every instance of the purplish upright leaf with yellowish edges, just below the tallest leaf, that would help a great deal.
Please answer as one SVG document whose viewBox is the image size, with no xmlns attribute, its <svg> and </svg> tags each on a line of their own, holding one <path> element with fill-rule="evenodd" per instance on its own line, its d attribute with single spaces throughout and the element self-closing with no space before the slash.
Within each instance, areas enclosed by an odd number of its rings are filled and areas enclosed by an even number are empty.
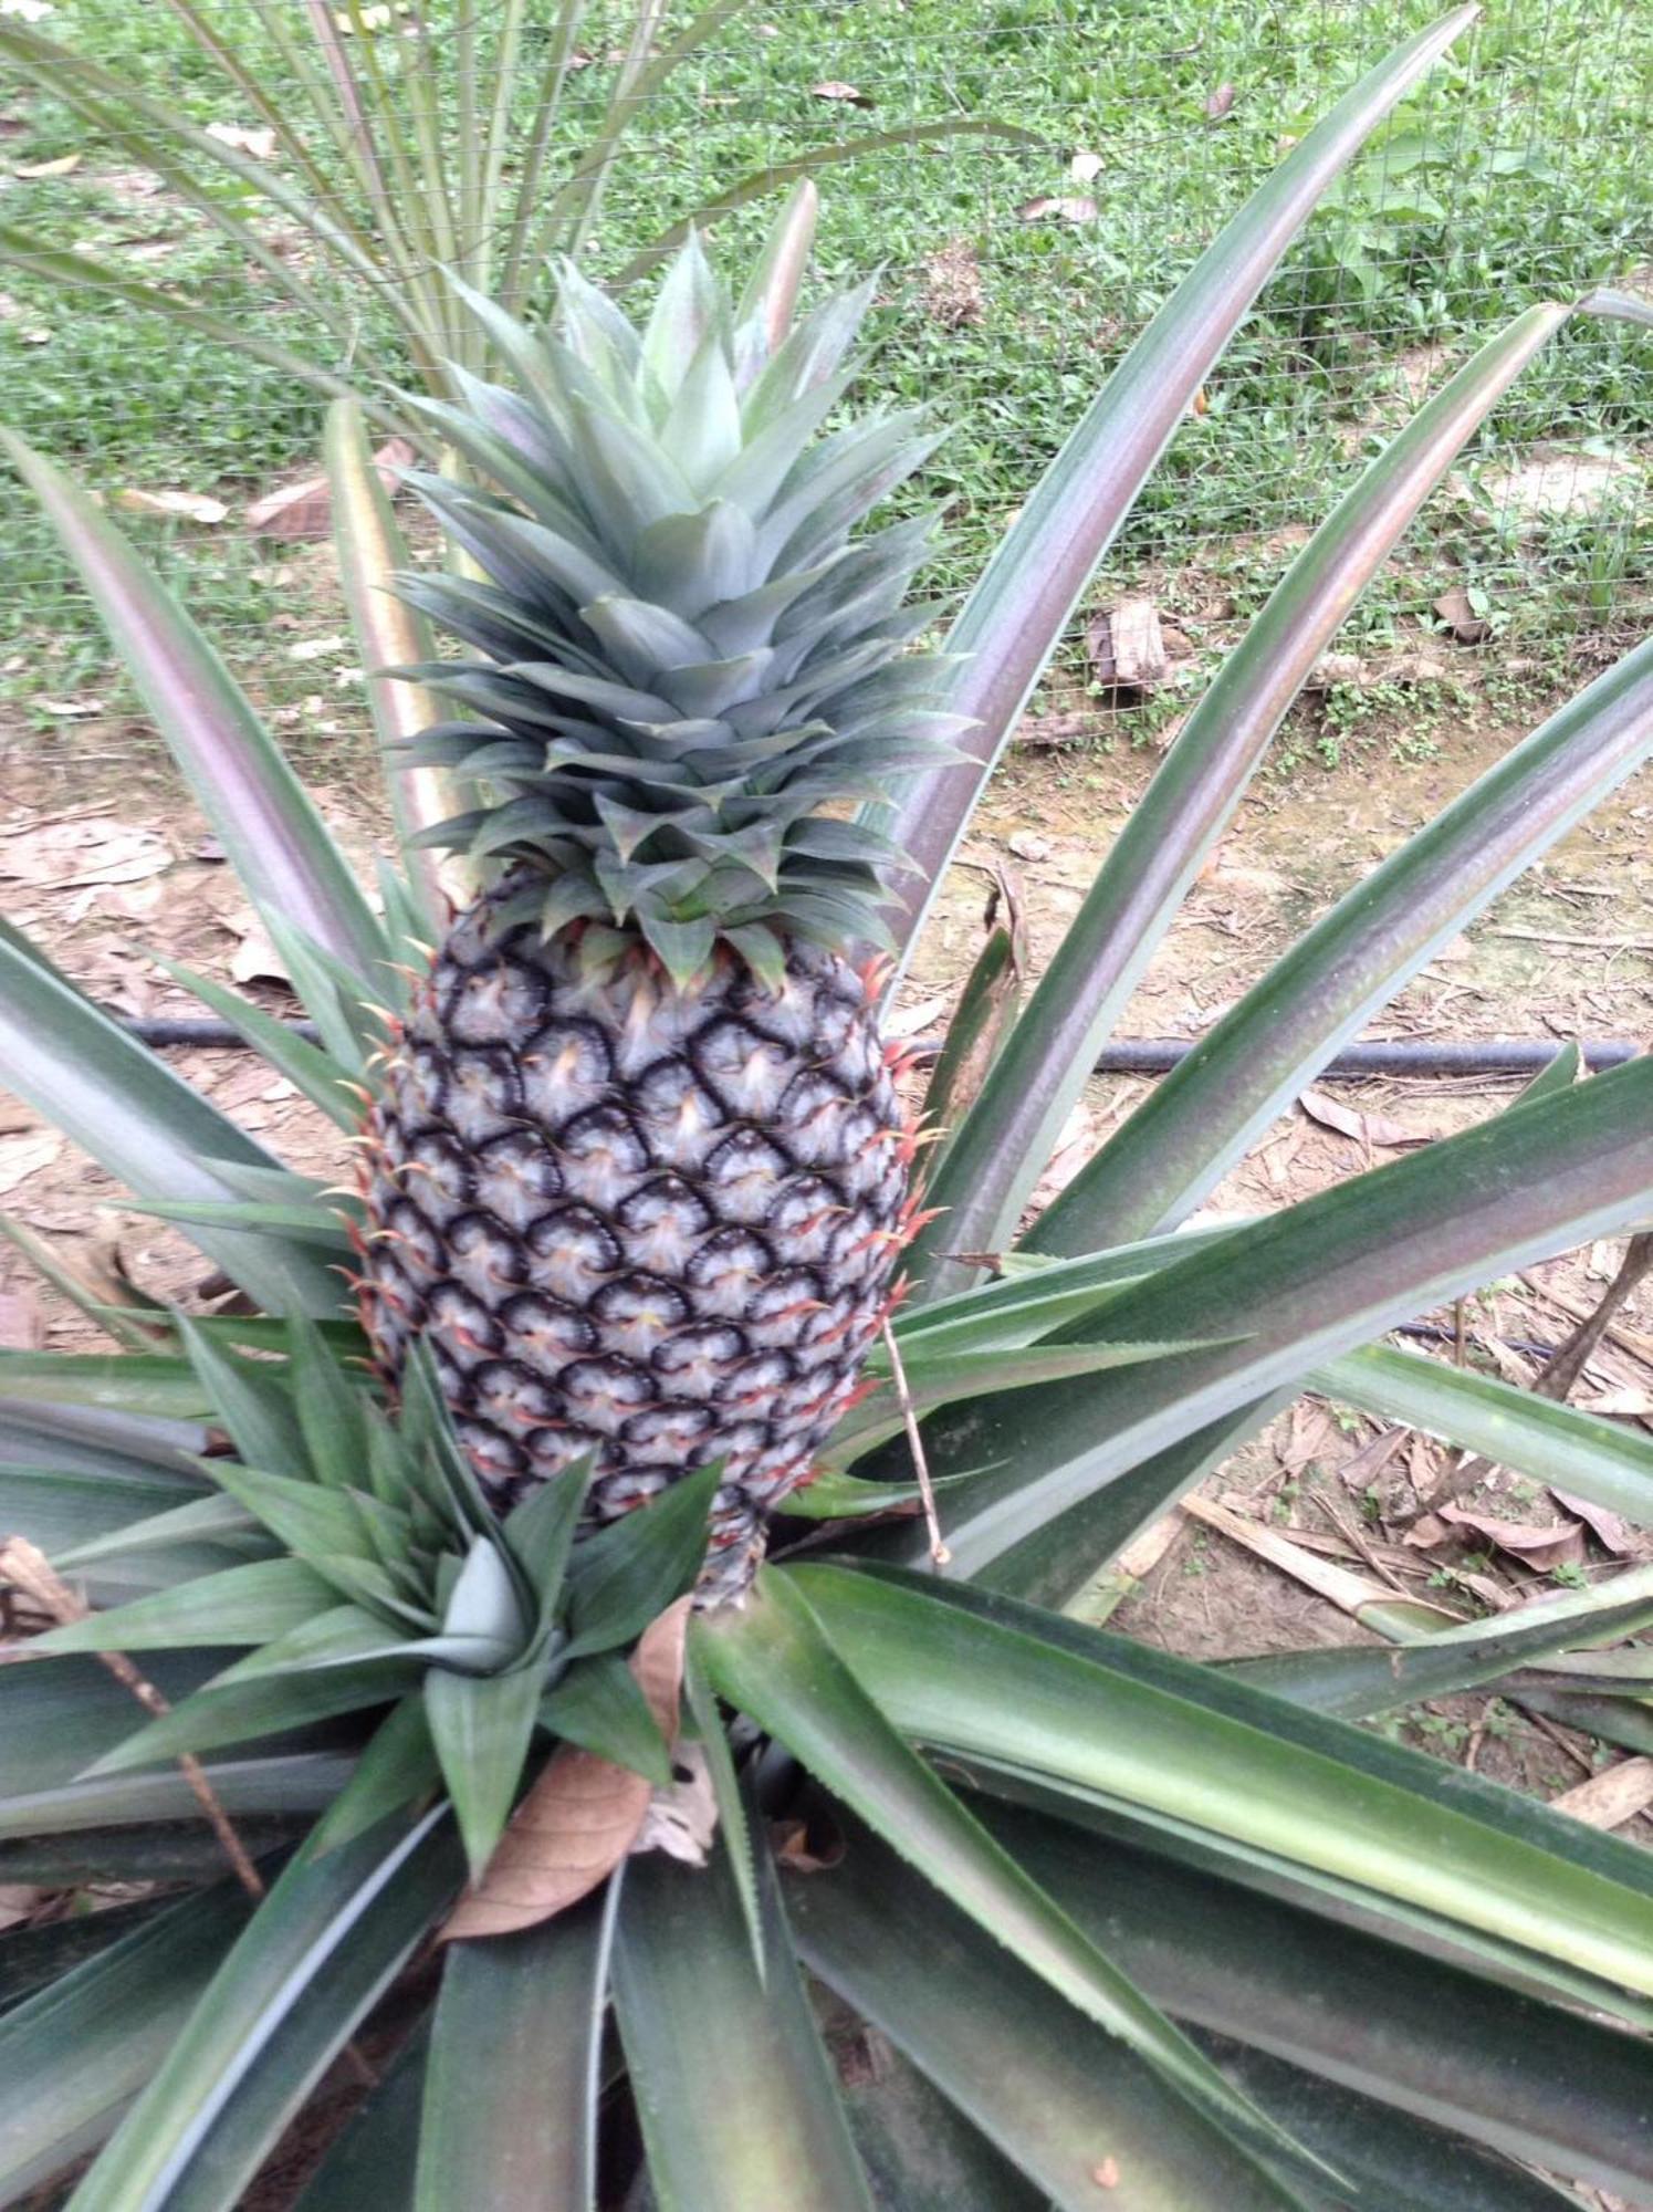
<svg viewBox="0 0 1653 2212">
<path fill-rule="evenodd" d="M 1529 307 L 1408 422 L 1304 546 L 1189 714 L 926 1183 L 926 1208 L 944 1212 L 919 1232 L 908 1261 L 924 1296 L 966 1274 L 937 1254 L 994 1252 L 1012 1239 L 1096 1055 L 1304 677 L 1476 425 L 1567 312 Z"/>
</svg>

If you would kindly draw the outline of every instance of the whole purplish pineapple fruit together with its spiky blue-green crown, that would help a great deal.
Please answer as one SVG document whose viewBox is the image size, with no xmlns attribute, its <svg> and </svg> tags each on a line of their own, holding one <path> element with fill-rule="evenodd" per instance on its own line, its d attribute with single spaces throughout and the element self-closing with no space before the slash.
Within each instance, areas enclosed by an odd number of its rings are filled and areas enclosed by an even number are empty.
<svg viewBox="0 0 1653 2212">
<path fill-rule="evenodd" d="M 418 489 L 480 580 L 404 595 L 473 659 L 413 759 L 477 799 L 488 887 L 438 949 L 362 1148 L 362 1318 L 429 1343 L 488 1498 L 592 1455 L 612 1520 L 723 1462 L 707 1604 L 857 1391 L 913 1130 L 875 1015 L 882 869 L 855 799 L 946 750 L 928 518 L 862 531 L 928 453 L 824 431 L 868 292 L 785 330 L 689 239 L 641 332 L 575 270 L 519 389 L 431 403 L 486 489 Z M 782 327 L 776 327 L 780 323 Z"/>
</svg>

